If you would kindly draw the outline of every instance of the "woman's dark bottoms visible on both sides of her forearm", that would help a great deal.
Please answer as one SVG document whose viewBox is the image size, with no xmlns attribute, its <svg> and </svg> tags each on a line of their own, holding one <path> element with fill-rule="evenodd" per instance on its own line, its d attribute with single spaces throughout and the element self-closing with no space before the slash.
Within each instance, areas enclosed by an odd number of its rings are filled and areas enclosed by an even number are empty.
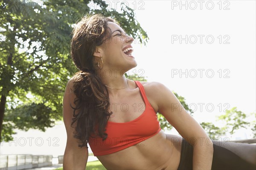
<svg viewBox="0 0 256 170">
<path fill-rule="evenodd" d="M 178 170 L 192 170 L 193 146 L 182 138 Z M 212 170 L 256 170 L 256 166 L 244 161 L 235 153 L 213 144 Z"/>
</svg>

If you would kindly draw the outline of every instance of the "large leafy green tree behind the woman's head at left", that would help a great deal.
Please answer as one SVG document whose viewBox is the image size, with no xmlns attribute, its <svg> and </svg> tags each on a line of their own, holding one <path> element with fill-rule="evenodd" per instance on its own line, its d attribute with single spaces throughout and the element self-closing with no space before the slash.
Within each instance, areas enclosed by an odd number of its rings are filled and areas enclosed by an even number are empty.
<svg viewBox="0 0 256 170">
<path fill-rule="evenodd" d="M 100 9 L 90 8 L 91 3 Z M 102 0 L 0 2 L 1 140 L 11 139 L 13 128 L 44 130 L 62 118 L 64 89 L 77 71 L 70 58 L 71 32 L 82 16 L 111 16 L 128 35 L 147 42 L 132 9 L 122 8 L 119 13 L 107 7 Z"/>
</svg>

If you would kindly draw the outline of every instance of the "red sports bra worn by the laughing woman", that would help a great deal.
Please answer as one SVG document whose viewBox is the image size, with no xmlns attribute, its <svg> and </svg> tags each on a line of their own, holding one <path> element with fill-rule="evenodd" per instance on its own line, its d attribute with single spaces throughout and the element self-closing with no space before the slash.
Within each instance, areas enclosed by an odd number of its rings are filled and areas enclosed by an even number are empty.
<svg viewBox="0 0 256 170">
<path fill-rule="evenodd" d="M 131 147 L 156 135 L 161 130 L 157 114 L 145 95 L 143 85 L 140 81 L 135 83 L 143 96 L 145 111 L 138 118 L 125 123 L 108 121 L 105 128 L 108 137 L 104 141 L 100 137 L 90 137 L 88 140 L 94 156 L 107 155 Z"/>
</svg>

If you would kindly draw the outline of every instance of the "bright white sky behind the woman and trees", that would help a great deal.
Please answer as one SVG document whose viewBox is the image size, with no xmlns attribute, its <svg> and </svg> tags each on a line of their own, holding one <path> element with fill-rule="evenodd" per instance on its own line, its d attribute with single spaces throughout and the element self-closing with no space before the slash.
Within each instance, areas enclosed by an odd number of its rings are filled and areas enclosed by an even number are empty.
<svg viewBox="0 0 256 170">
<path fill-rule="evenodd" d="M 117 2 L 108 4 L 119 8 L 123 1 Z M 232 107 L 247 114 L 256 112 L 256 1 L 184 0 L 183 6 L 171 0 L 125 2 L 135 9 L 150 38 L 146 47 L 138 39 L 132 44 L 138 63 L 133 72 L 183 96 L 198 122 L 215 122 L 216 115 Z M 2 144 L 1 154 L 64 153 L 66 132 L 61 123 L 46 133 L 29 130 L 15 137 L 17 146 L 15 142 Z M 233 137 L 251 136 L 240 130 Z M 23 141 L 25 146 L 21 146 Z M 42 146 L 38 146 L 40 141 Z M 56 141 L 59 146 L 53 146 Z"/>
</svg>

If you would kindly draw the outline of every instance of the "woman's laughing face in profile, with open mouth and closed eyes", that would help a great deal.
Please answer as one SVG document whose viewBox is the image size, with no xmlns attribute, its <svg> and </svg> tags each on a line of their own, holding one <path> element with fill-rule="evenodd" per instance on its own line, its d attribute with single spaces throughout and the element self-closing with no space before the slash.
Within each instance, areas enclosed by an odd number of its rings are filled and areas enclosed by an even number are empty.
<svg viewBox="0 0 256 170">
<path fill-rule="evenodd" d="M 104 61 L 104 69 L 130 70 L 137 66 L 131 43 L 133 37 L 126 35 L 124 30 L 116 23 L 108 22 L 111 34 L 99 46 L 100 55 Z M 99 55 L 98 55 L 99 56 Z"/>
</svg>

